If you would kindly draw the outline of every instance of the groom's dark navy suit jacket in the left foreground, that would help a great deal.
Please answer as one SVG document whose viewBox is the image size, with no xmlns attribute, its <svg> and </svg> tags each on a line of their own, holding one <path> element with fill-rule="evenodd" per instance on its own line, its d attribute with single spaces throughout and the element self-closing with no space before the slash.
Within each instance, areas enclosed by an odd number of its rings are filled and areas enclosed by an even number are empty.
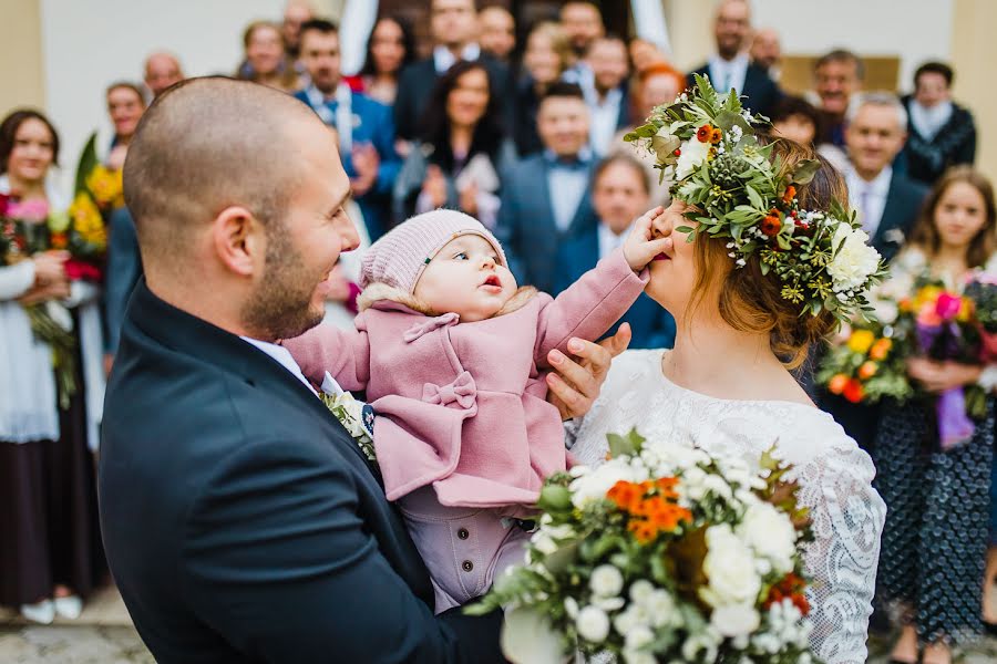
<svg viewBox="0 0 997 664">
<path fill-rule="evenodd" d="M 158 662 L 501 661 L 494 614 L 433 618 L 401 518 L 316 395 L 144 280 L 103 427 L 104 544 Z"/>
</svg>

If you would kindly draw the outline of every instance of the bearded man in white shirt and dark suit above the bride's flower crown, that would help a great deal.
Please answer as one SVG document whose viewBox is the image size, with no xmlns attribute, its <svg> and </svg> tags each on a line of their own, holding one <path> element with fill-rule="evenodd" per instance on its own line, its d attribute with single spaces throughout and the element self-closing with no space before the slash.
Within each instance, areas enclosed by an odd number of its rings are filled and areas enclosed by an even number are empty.
<svg viewBox="0 0 997 664">
<path fill-rule="evenodd" d="M 747 0 L 723 0 L 713 20 L 717 52 L 689 74 L 709 75 L 710 83 L 721 94 L 736 90 L 746 108 L 768 116 L 782 93 L 769 77 L 767 70 L 753 64 L 747 53 L 751 32 L 751 7 Z"/>
</svg>

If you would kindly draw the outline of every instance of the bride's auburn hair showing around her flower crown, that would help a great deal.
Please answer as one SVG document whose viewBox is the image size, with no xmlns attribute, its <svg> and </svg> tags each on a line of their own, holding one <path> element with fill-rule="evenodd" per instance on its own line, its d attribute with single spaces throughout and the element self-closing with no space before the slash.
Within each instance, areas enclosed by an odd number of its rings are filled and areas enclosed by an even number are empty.
<svg viewBox="0 0 997 664">
<path fill-rule="evenodd" d="M 842 175 L 812 147 L 785 138 L 772 142 L 772 158 L 781 157 L 785 176 L 800 162 L 818 159 L 820 169 L 806 185 L 795 185 L 796 199 L 802 209 L 829 211 L 837 200 L 847 206 L 849 194 Z M 806 359 L 810 344 L 826 336 L 835 325 L 834 314 L 822 310 L 818 315 L 804 312 L 800 303 L 782 297 L 782 283 L 774 273 L 762 274 L 758 252 L 746 266 L 734 269 L 728 256 L 727 238 L 698 236 L 693 242 L 696 281 L 690 307 L 696 307 L 713 289 L 717 290 L 720 317 L 740 332 L 768 333 L 772 352 L 789 369 L 800 366 Z"/>
</svg>

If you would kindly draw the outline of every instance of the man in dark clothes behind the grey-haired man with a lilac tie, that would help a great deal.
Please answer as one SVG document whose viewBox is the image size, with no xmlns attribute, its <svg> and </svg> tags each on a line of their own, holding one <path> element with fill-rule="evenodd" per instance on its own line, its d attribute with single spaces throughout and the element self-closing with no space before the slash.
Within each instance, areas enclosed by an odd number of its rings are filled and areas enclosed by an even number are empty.
<svg viewBox="0 0 997 664">
<path fill-rule="evenodd" d="M 865 65 L 843 49 L 822 55 L 813 65 L 814 92 L 821 111 L 818 143 L 845 146 L 845 114 L 862 91 Z"/>
</svg>

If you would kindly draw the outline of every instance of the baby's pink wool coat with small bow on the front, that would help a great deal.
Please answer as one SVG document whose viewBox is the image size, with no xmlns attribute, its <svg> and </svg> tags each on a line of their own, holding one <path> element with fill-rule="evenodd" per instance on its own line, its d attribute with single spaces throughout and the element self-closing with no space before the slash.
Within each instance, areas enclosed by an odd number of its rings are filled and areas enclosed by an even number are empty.
<svg viewBox="0 0 997 664">
<path fill-rule="evenodd" d="M 572 336 L 596 340 L 644 291 L 617 250 L 557 299 L 538 293 L 496 318 L 460 323 L 380 301 L 356 330 L 322 324 L 287 340 L 305 375 L 366 390 L 389 500 L 433 485 L 441 505 L 532 506 L 565 469 L 561 415 L 541 372 Z"/>
</svg>

